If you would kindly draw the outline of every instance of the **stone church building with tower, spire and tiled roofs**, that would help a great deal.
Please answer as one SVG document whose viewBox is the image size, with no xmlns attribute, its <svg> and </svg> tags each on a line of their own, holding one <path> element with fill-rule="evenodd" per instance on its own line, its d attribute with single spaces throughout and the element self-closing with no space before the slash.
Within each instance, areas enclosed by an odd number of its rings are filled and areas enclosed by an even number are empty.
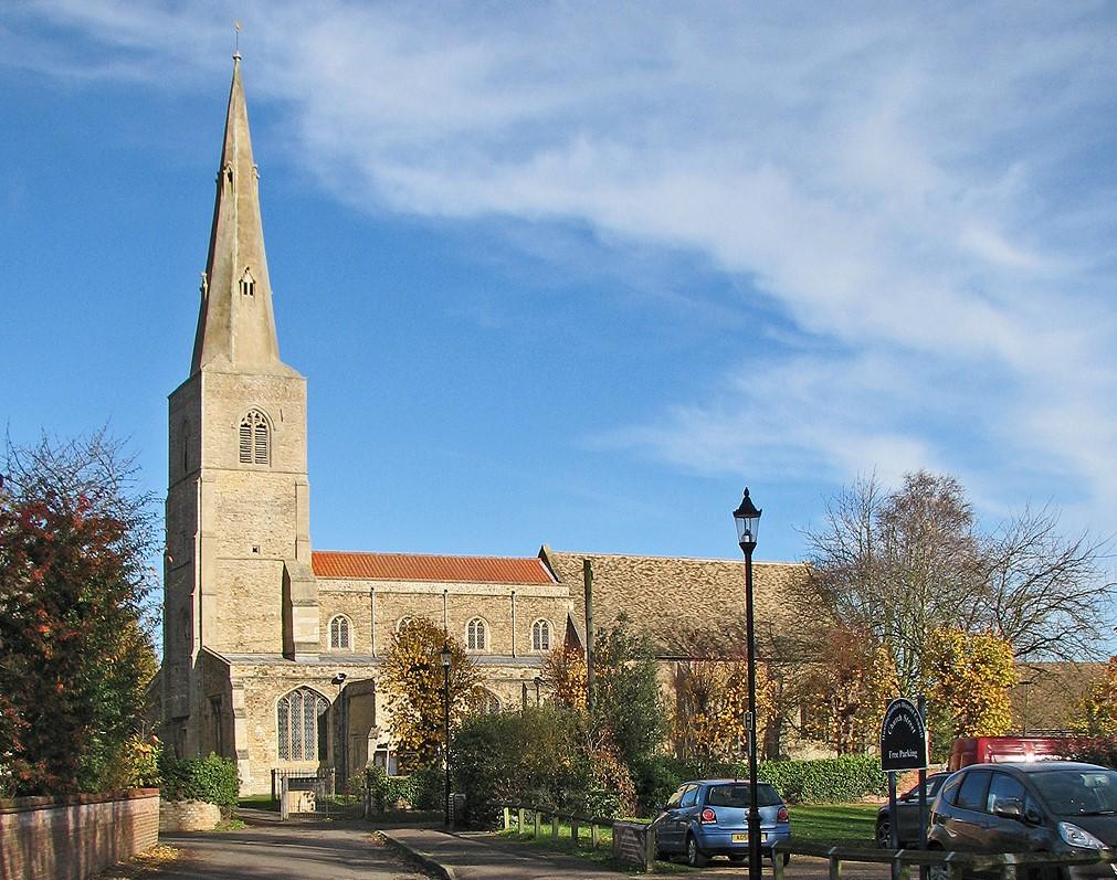
<svg viewBox="0 0 1117 880">
<path fill-rule="evenodd" d="M 376 677 L 409 618 L 467 647 L 489 710 L 540 699 L 543 657 L 584 639 L 586 558 L 312 549 L 307 381 L 279 355 L 258 184 L 235 56 L 193 357 L 169 401 L 161 686 L 166 747 L 236 758 L 245 793 L 276 769 L 392 766 Z M 741 562 L 591 558 L 599 625 L 626 613 L 655 637 L 743 606 Z M 801 573 L 756 566 L 760 620 Z"/>
</svg>

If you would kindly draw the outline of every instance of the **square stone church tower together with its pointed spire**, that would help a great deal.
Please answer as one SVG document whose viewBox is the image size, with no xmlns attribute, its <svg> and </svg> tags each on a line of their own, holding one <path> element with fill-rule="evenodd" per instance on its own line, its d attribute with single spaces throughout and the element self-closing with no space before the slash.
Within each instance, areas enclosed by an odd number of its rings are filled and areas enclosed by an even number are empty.
<svg viewBox="0 0 1117 880">
<path fill-rule="evenodd" d="M 210 705 L 202 651 L 295 659 L 319 641 L 306 380 L 279 358 L 239 60 L 193 361 L 170 396 L 163 716 L 181 754 L 222 745 L 203 742 L 229 707 Z"/>
</svg>

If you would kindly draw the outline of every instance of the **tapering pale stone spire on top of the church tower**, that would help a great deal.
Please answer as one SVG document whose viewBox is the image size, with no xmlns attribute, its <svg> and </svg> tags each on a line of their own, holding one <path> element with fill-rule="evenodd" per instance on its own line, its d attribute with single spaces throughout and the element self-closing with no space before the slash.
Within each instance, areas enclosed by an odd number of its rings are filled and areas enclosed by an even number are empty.
<svg viewBox="0 0 1117 880">
<path fill-rule="evenodd" d="M 207 366 L 288 372 L 279 361 L 271 310 L 271 285 L 260 222 L 259 175 L 248 134 L 240 54 L 232 58 L 232 87 L 217 175 L 209 260 L 202 276 L 191 375 Z"/>
</svg>

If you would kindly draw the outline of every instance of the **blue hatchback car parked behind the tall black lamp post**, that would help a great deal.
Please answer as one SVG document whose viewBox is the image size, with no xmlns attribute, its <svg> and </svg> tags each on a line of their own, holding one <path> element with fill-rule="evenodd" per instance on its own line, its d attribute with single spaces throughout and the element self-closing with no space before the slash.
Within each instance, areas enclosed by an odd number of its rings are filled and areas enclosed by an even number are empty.
<svg viewBox="0 0 1117 880">
<path fill-rule="evenodd" d="M 761 851 L 791 836 L 787 805 L 767 783 L 756 786 L 761 813 Z M 741 779 L 694 779 L 672 794 L 651 823 L 657 858 L 686 855 L 687 864 L 701 868 L 714 855 L 748 861 L 748 783 Z M 787 853 L 783 854 L 784 864 Z"/>
</svg>

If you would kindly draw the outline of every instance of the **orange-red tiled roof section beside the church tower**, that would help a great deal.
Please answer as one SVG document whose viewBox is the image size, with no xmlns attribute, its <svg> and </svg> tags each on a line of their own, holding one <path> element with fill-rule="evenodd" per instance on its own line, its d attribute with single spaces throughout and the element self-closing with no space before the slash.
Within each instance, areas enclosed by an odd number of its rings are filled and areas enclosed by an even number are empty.
<svg viewBox="0 0 1117 880">
<path fill-rule="evenodd" d="M 362 581 L 464 581 L 481 584 L 553 584 L 537 556 L 426 556 L 410 553 L 344 553 L 315 551 L 318 577 Z"/>
</svg>

